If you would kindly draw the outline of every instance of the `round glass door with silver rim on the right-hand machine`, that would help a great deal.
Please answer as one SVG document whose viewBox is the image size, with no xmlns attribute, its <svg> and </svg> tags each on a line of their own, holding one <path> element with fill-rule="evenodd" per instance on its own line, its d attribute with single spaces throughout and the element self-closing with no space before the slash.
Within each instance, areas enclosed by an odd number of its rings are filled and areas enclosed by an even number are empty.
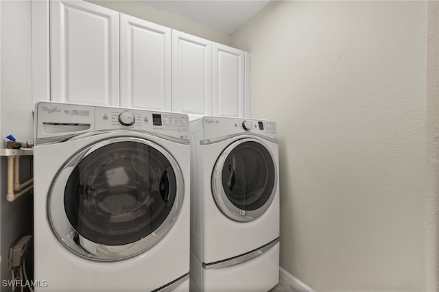
<svg viewBox="0 0 439 292">
<path fill-rule="evenodd" d="M 268 147 L 252 138 L 229 145 L 217 160 L 212 186 L 217 206 L 230 219 L 261 216 L 276 191 L 276 167 Z"/>
</svg>

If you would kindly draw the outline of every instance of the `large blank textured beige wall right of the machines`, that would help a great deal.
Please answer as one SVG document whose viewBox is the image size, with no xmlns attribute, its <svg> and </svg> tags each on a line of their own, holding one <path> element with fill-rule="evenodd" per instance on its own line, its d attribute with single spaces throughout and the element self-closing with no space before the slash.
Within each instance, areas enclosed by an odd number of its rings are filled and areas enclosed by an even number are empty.
<svg viewBox="0 0 439 292">
<path fill-rule="evenodd" d="M 427 2 L 275 1 L 232 45 L 252 117 L 278 122 L 281 266 L 316 291 L 424 291 Z"/>
</svg>

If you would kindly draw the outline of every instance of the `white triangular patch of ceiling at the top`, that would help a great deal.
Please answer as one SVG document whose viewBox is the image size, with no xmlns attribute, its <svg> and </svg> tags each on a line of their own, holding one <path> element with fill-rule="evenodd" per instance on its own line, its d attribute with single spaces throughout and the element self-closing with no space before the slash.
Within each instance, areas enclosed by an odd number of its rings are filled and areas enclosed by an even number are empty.
<svg viewBox="0 0 439 292">
<path fill-rule="evenodd" d="M 226 34 L 233 34 L 270 0 L 143 0 L 143 2 L 203 23 Z"/>
</svg>

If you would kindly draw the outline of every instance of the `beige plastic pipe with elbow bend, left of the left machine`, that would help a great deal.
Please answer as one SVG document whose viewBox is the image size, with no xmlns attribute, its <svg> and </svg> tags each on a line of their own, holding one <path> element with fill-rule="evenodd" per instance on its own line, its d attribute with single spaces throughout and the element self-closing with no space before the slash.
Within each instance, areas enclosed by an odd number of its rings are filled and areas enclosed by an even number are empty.
<svg viewBox="0 0 439 292">
<path fill-rule="evenodd" d="M 24 195 L 28 191 L 30 191 L 32 188 L 34 188 L 34 179 L 31 178 L 27 182 L 24 182 L 23 184 L 20 184 L 20 156 L 8 156 L 8 195 L 6 199 L 8 202 L 14 201 L 16 198 L 20 197 L 21 195 Z M 26 187 L 27 185 L 32 184 L 25 188 L 23 191 L 21 191 L 22 188 Z M 14 193 L 14 191 L 19 191 L 19 193 Z"/>
</svg>

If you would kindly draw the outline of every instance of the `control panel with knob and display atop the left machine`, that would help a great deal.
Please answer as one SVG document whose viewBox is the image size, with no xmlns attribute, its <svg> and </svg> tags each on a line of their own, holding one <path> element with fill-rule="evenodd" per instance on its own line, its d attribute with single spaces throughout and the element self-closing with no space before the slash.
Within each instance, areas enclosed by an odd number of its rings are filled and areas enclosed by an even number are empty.
<svg viewBox="0 0 439 292">
<path fill-rule="evenodd" d="M 102 130 L 139 130 L 189 138 L 187 114 L 104 106 L 40 102 L 35 108 L 35 138 L 69 136 Z"/>
</svg>

